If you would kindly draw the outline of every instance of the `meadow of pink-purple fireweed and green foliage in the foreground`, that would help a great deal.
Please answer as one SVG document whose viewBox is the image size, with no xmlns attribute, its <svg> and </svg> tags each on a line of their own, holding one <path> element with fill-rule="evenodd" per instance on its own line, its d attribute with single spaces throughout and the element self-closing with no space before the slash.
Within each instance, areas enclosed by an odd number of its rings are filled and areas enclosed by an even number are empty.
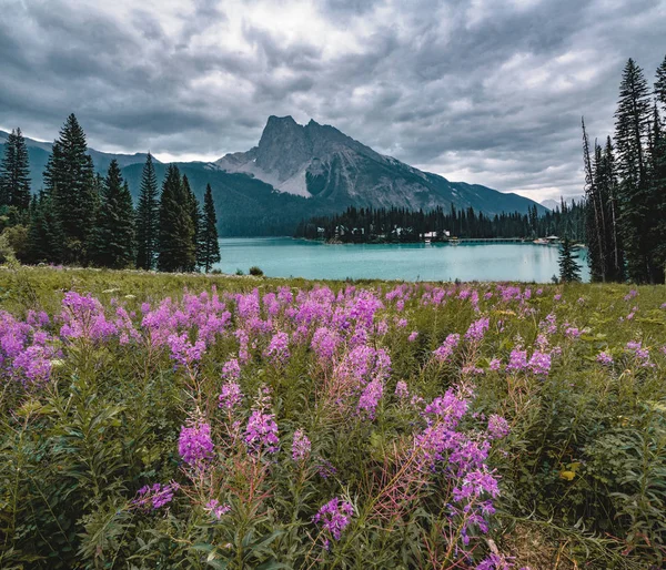
<svg viewBox="0 0 666 570">
<path fill-rule="evenodd" d="M 0 272 L 0 568 L 648 569 L 666 289 Z"/>
</svg>

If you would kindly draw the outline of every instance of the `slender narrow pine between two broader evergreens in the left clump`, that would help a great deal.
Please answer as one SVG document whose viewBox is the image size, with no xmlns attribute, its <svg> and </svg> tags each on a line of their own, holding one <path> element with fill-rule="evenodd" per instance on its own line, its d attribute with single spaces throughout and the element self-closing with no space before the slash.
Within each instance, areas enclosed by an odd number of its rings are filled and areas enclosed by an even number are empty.
<svg viewBox="0 0 666 570">
<path fill-rule="evenodd" d="M 150 152 L 141 176 L 137 208 L 137 267 L 152 269 L 157 261 L 160 214 L 158 176 Z"/>
</svg>

